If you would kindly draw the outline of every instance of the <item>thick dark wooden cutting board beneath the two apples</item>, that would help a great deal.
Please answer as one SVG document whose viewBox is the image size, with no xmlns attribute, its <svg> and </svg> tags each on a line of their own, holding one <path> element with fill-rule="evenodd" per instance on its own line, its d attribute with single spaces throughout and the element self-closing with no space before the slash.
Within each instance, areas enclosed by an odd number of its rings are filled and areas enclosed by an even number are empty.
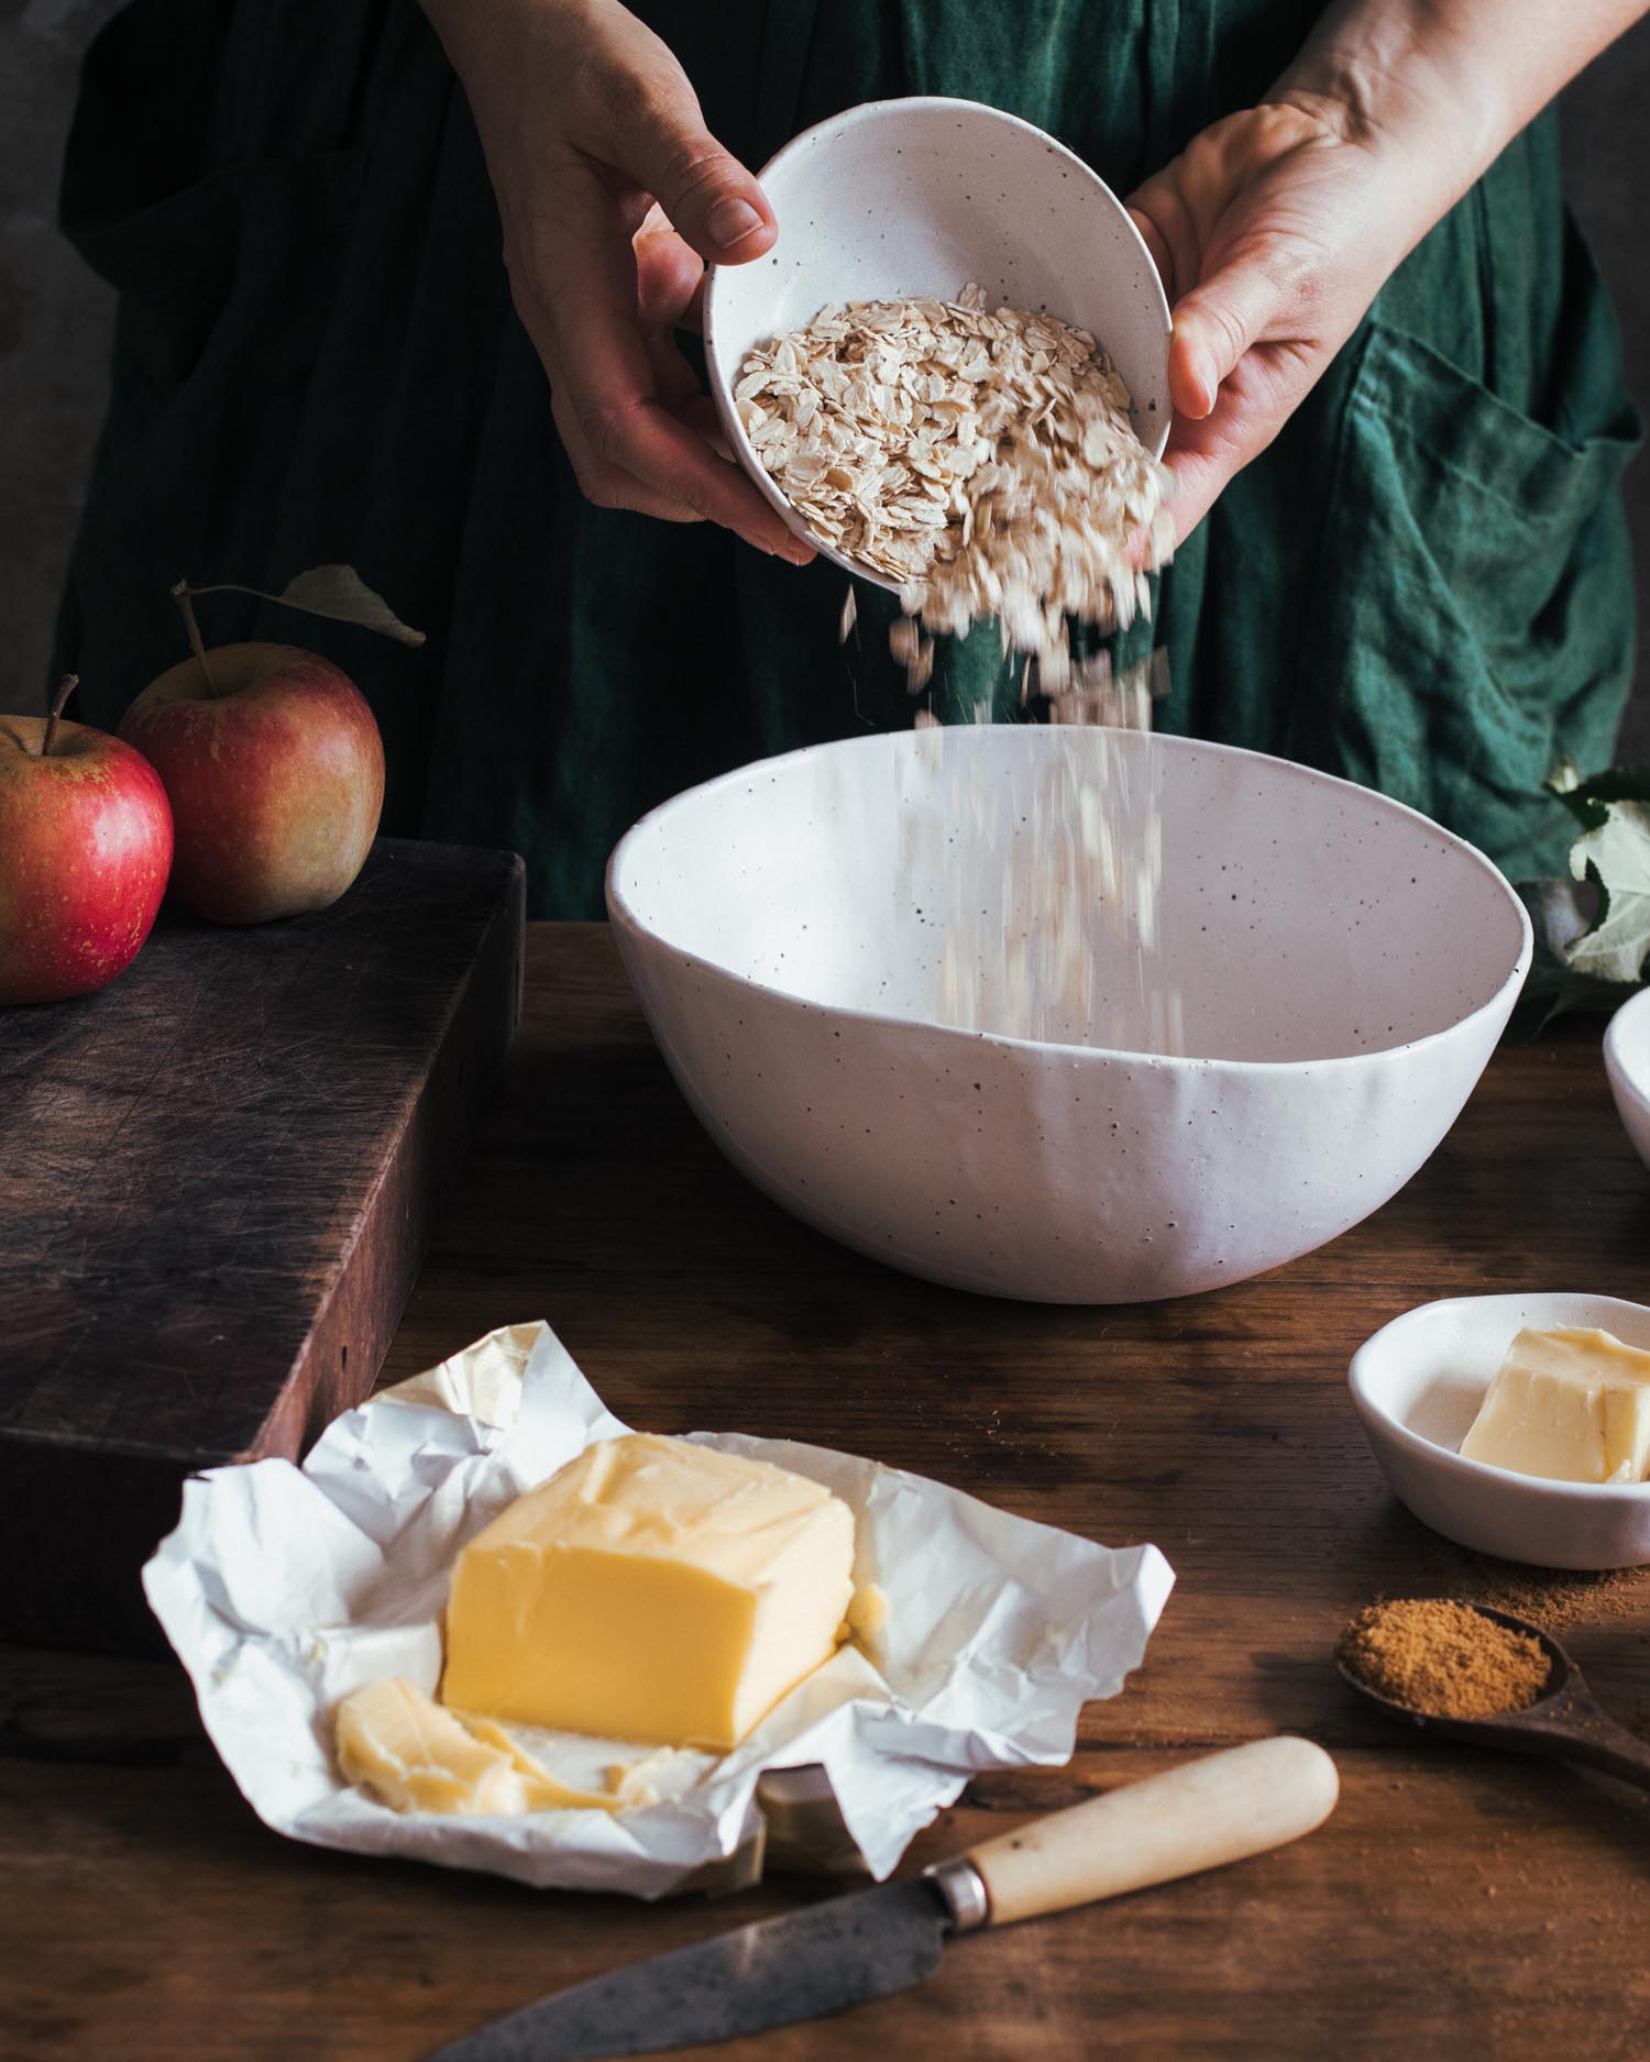
<svg viewBox="0 0 1650 2062">
<path fill-rule="evenodd" d="M 196 1468 L 373 1386 L 520 1015 L 522 862 L 380 839 L 316 916 L 163 918 L 0 1010 L 0 1637 L 140 1650 Z"/>
</svg>

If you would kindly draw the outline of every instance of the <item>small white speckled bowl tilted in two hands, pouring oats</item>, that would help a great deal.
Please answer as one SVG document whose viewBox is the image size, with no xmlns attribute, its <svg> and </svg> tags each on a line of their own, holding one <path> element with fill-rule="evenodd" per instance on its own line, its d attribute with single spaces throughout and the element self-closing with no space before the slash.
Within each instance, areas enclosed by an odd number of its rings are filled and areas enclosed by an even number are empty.
<svg viewBox="0 0 1650 2062">
<path fill-rule="evenodd" d="M 763 470 L 732 390 L 753 344 L 800 330 L 827 301 L 943 301 L 976 280 L 994 307 L 1046 307 L 1091 330 L 1124 377 L 1134 433 L 1169 435 L 1169 303 L 1141 231 L 1081 157 L 978 101 L 866 101 L 794 136 L 761 169 L 780 241 L 712 266 L 705 365 L 728 445 L 790 528 L 817 538 Z"/>
</svg>

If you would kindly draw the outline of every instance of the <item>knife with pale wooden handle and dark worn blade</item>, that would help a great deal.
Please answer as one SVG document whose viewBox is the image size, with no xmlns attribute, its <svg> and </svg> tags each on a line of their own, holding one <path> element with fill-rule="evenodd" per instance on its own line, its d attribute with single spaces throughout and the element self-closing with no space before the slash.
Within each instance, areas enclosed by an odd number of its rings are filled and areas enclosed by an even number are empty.
<svg viewBox="0 0 1650 2062">
<path fill-rule="evenodd" d="M 429 2062 L 598 2062 L 726 2041 L 920 1984 L 951 1934 L 1009 1926 L 1281 1848 L 1322 1825 L 1339 1777 L 1287 1734 L 1204 1755 L 1035 1819 L 926 1874 L 757 1920 L 575 1984 Z"/>
</svg>

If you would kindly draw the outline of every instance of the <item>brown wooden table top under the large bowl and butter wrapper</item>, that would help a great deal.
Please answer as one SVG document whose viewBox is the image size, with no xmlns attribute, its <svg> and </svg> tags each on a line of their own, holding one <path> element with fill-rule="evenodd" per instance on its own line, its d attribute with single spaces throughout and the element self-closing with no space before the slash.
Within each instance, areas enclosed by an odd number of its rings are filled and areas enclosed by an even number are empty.
<svg viewBox="0 0 1650 2062">
<path fill-rule="evenodd" d="M 1650 1177 L 1596 1025 L 1499 1054 L 1417 1179 L 1262 1281 L 1118 1309 L 932 1289 L 751 1190 L 676 1097 L 600 926 L 534 926 L 509 1087 L 396 1336 L 400 1379 L 549 1318 L 629 1423 L 874 1454 L 1178 1586 L 1068 1769 L 986 1777 L 910 1864 L 1198 1749 L 1306 1732 L 1343 1800 L 1235 1868 L 957 1942 L 938 1977 L 726 2062 L 1650 2054 L 1650 1804 L 1421 1749 L 1330 1668 L 1378 1592 L 1522 1600 L 1650 1716 L 1650 1571 L 1551 1577 L 1423 1530 L 1376 1472 L 1351 1349 L 1427 1297 L 1650 1299 Z M 547 1990 L 817 1895 L 641 1907 L 330 1854 L 252 1817 L 173 1664 L 0 1650 L 0 2048 L 97 2062 L 412 2062 Z"/>
</svg>

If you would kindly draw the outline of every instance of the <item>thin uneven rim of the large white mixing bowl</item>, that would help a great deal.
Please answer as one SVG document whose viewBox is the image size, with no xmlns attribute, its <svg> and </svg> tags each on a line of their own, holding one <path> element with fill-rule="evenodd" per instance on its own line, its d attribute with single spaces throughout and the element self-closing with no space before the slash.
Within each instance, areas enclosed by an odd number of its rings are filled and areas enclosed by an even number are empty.
<svg viewBox="0 0 1650 2062">
<path fill-rule="evenodd" d="M 967 734 L 978 734 L 980 728 L 984 728 L 984 730 L 1046 730 L 1046 732 L 1054 734 L 1054 732 L 1062 730 L 1064 726 L 1058 726 L 1058 724 L 986 724 L 986 726 L 961 724 L 961 726 L 953 726 L 953 728 L 965 730 Z M 602 887 L 604 887 L 604 899 L 606 899 L 606 911 L 608 911 L 608 922 L 615 926 L 615 930 L 625 932 L 627 936 L 633 936 L 633 938 L 637 938 L 641 942 L 654 940 L 654 942 L 666 946 L 674 959 L 679 959 L 679 961 L 683 961 L 687 965 L 697 967 L 701 973 L 712 973 L 712 975 L 716 975 L 716 977 L 720 977 L 724 982 L 736 982 L 740 988 L 745 988 L 745 990 L 749 990 L 753 994 L 767 996 L 767 998 L 771 998 L 776 1002 L 784 1002 L 784 1004 L 788 1004 L 790 1008 L 796 1008 L 796 1010 L 808 1010 L 808 1012 L 829 1010 L 835 1017 L 842 1017 L 846 1023 L 872 1025 L 877 1029 L 889 1029 L 889 1031 L 895 1031 L 895 1033 L 905 1033 L 905 1031 L 924 1031 L 928 1035 L 938 1033 L 945 1039 L 955 1039 L 957 1043 L 967 1043 L 967 1045 L 1000 1045 L 1000 1047 L 1004 1047 L 1009 1052 L 1046 1054 L 1046 1056 L 1058 1058 L 1058 1060 L 1106 1060 L 1106 1062 L 1126 1060 L 1126 1062 L 1130 1062 L 1134 1066 L 1172 1068 L 1172 1070 L 1184 1070 L 1188 1074 L 1192 1074 L 1192 1072 L 1209 1072 L 1211 1068 L 1221 1068 L 1221 1070 L 1231 1072 L 1231 1074 L 1283 1076 L 1283 1074 L 1299 1072 L 1301 1068 L 1306 1068 L 1306 1070 L 1336 1070 L 1339 1072 L 1339 1070 L 1347 1070 L 1347 1068 L 1370 1066 L 1370 1064 L 1374 1064 L 1378 1060 L 1390 1058 L 1392 1054 L 1425 1052 L 1425 1050 L 1429 1050 L 1433 1045 L 1442 1045 L 1444 1039 L 1460 1037 L 1471 1025 L 1477 1025 L 1483 1019 L 1493 1017 L 1495 1010 L 1499 1010 L 1504 1006 L 1504 1002 L 1506 1002 L 1508 1010 L 1512 1008 L 1512 1002 L 1518 998 L 1518 990 L 1524 986 L 1524 977 L 1530 971 L 1530 957 L 1534 953 L 1534 930 L 1530 926 L 1530 913 L 1524 907 L 1524 903 L 1518 897 L 1518 893 L 1514 891 L 1512 883 L 1506 878 L 1506 874 L 1499 870 L 1499 866 L 1495 866 L 1493 860 L 1485 858 L 1485 854 L 1479 852 L 1477 845 L 1468 843 L 1456 831 L 1444 829 L 1442 823 L 1433 823 L 1431 817 L 1421 814 L 1419 808 L 1411 808 L 1409 802 L 1398 802 L 1390 794 L 1382 794 L 1378 788 L 1363 788 L 1359 781 L 1343 779 L 1339 773 L 1322 773 L 1318 767 L 1306 767 L 1306 765 L 1301 765 L 1295 759 L 1279 759 L 1275 753 L 1256 753 L 1256 751 L 1250 751 L 1248 746 L 1242 746 L 1242 744 L 1221 744 L 1221 742 L 1217 742 L 1213 738 L 1182 738 L 1182 736 L 1169 736 L 1165 732 L 1155 732 L 1155 730 L 1128 732 L 1128 734 L 1143 736 L 1147 740 L 1149 749 L 1155 749 L 1155 751 L 1161 749 L 1161 751 L 1172 751 L 1172 753 L 1176 753 L 1176 751 L 1219 753 L 1221 757 L 1229 757 L 1229 759 L 1246 759 L 1246 761 L 1258 761 L 1260 765 L 1268 765 L 1268 767 L 1285 767 L 1289 773 L 1299 773 L 1299 775 L 1304 775 L 1308 779 L 1314 779 L 1314 781 L 1326 781 L 1332 788 L 1347 788 L 1353 794 L 1363 796 L 1365 800 L 1378 802 L 1382 808 L 1388 808 L 1388 810 L 1392 810 L 1398 817 L 1409 817 L 1411 821 L 1423 825 L 1427 831 L 1431 831 L 1433 835 L 1446 839 L 1448 843 L 1458 845 L 1462 852 L 1466 852 L 1477 862 L 1477 866 L 1483 870 L 1483 874 L 1489 880 L 1493 880 L 1493 885 L 1502 891 L 1502 895 L 1506 897 L 1508 905 L 1512 907 L 1512 911 L 1518 918 L 1520 940 L 1522 942 L 1520 942 L 1520 951 L 1518 951 L 1518 957 L 1516 957 L 1512 969 L 1502 977 L 1502 982 L 1495 986 L 1495 990 L 1489 996 L 1485 996 L 1483 1002 L 1477 1004 L 1477 1008 L 1468 1010 L 1464 1017 L 1458 1017 L 1454 1023 L 1444 1025 L 1442 1031 L 1427 1031 L 1423 1037 L 1405 1039 L 1405 1043 L 1400 1043 L 1400 1045 L 1372 1045 L 1372 1047 L 1367 1047 L 1367 1052 L 1326 1054 L 1326 1056 L 1322 1056 L 1318 1060 L 1217 1060 L 1217 1058 L 1194 1058 L 1190 1054 L 1130 1052 L 1126 1045 L 1072 1045 L 1072 1043 L 1062 1043 L 1062 1041 L 1056 1041 L 1056 1039 L 1011 1037 L 1004 1031 L 965 1031 L 959 1025 L 943 1025 L 943 1023 L 934 1021 L 932 1017 L 895 1017 L 891 1010 L 858 1010 L 858 1008 L 850 1008 L 848 1004 L 839 1004 L 839 1002 L 813 1002 L 806 996 L 798 996 L 794 990 L 778 988 L 771 982 L 759 982 L 755 975 L 749 975 L 749 973 L 738 973 L 734 967 L 728 967 L 722 961 L 710 959 L 705 953 L 697 953 L 691 946 L 672 944 L 660 932 L 656 932 L 650 926 L 646 926 L 641 922 L 641 918 L 635 913 L 635 909 L 631 907 L 631 903 L 627 901 L 625 891 L 623 891 L 621 880 L 619 880 L 619 874 L 623 870 L 623 864 L 625 864 L 629 852 L 644 837 L 644 833 L 652 831 L 652 827 L 668 810 L 674 810 L 679 804 L 685 804 L 685 802 L 689 802 L 695 796 L 712 796 L 712 794 L 716 794 L 718 788 L 728 788 L 728 786 L 734 786 L 734 784 L 745 784 L 753 775 L 759 775 L 759 773 L 765 773 L 765 771 L 778 771 L 780 767 L 786 767 L 786 765 L 790 765 L 790 763 L 794 763 L 798 759 L 806 759 L 808 755 L 844 753 L 844 751 L 848 751 L 848 753 L 852 753 L 852 751 L 866 751 L 866 749 L 874 749 L 877 744 L 881 744 L 883 738 L 893 738 L 895 746 L 897 746 L 899 740 L 903 740 L 903 738 L 918 738 L 920 732 L 916 732 L 916 730 L 877 730 L 877 732 L 866 732 L 866 734 L 850 736 L 850 738 L 827 738 L 821 744 L 802 744 L 796 751 L 776 753 L 769 759 L 753 759 L 753 761 L 749 761 L 749 765 L 732 767 L 726 773 L 716 773 L 707 781 L 697 781 L 693 788 L 683 788 L 681 794 L 672 794 L 664 802 L 656 802 L 654 808 L 650 808 L 641 817 L 637 817 L 637 821 L 629 827 L 629 831 L 625 831 L 625 835 L 619 839 L 619 843 L 608 854 L 606 874 L 604 874 L 604 883 L 602 883 Z"/>
</svg>

